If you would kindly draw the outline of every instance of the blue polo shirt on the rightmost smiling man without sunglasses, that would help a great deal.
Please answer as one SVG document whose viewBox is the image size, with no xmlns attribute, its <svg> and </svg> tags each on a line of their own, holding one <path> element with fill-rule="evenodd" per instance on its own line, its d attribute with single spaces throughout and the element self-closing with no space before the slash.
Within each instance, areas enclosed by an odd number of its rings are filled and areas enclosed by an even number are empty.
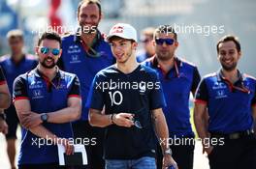
<svg viewBox="0 0 256 169">
<path fill-rule="evenodd" d="M 209 132 L 223 134 L 252 128 L 251 106 L 256 103 L 256 79 L 238 71 L 240 79 L 232 84 L 221 70 L 203 78 L 196 103 L 207 104 Z"/>
</svg>

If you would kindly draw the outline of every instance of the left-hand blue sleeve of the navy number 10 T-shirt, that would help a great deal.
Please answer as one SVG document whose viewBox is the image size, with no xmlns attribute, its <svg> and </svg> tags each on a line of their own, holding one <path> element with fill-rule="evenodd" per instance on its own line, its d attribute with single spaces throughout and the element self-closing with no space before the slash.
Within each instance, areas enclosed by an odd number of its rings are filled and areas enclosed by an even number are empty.
<svg viewBox="0 0 256 169">
<path fill-rule="evenodd" d="M 104 92 L 101 89 L 101 83 L 102 83 L 102 79 L 101 77 L 96 74 L 96 76 L 94 77 L 91 87 L 90 87 L 90 91 L 88 94 L 88 98 L 86 101 L 85 106 L 87 108 L 93 108 L 93 109 L 97 109 L 97 110 L 102 110 L 104 107 Z"/>
</svg>

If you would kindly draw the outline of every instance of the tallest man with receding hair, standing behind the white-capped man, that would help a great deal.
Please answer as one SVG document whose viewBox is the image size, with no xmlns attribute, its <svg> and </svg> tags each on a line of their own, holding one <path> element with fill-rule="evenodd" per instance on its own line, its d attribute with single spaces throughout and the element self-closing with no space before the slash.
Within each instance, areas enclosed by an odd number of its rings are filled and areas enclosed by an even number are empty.
<svg viewBox="0 0 256 169">
<path fill-rule="evenodd" d="M 62 40 L 62 56 L 59 66 L 80 78 L 81 99 L 85 103 L 93 77 L 114 63 L 110 45 L 98 30 L 102 18 L 101 4 L 98 0 L 82 0 L 78 7 L 80 29 L 75 35 Z M 85 144 L 88 155 L 86 168 L 104 168 L 102 158 L 103 129 L 91 127 L 88 123 L 88 108 L 82 104 L 81 118 L 73 123 L 75 138 Z M 96 144 L 95 144 L 96 142 Z"/>
</svg>

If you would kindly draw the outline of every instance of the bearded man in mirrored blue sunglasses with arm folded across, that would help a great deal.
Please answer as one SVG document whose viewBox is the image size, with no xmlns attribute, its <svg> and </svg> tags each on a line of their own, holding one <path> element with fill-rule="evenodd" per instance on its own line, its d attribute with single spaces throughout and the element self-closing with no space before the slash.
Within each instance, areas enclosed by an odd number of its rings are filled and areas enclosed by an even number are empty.
<svg viewBox="0 0 256 169">
<path fill-rule="evenodd" d="M 61 38 L 47 32 L 35 47 L 36 69 L 16 77 L 14 104 L 22 126 L 19 169 L 58 169 L 56 144 L 73 154 L 71 122 L 80 118 L 80 82 L 76 74 L 59 70 Z"/>
</svg>

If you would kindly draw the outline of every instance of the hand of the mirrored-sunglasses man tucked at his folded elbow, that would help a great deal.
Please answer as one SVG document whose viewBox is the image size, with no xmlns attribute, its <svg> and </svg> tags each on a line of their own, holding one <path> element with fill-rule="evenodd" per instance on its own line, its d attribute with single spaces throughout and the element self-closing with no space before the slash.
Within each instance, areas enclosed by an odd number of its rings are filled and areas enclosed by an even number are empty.
<svg viewBox="0 0 256 169">
<path fill-rule="evenodd" d="M 31 128 L 31 127 L 37 127 L 43 123 L 41 120 L 41 114 L 34 113 L 34 112 L 22 112 L 20 120 L 20 124 L 22 127 L 25 128 Z"/>
</svg>

